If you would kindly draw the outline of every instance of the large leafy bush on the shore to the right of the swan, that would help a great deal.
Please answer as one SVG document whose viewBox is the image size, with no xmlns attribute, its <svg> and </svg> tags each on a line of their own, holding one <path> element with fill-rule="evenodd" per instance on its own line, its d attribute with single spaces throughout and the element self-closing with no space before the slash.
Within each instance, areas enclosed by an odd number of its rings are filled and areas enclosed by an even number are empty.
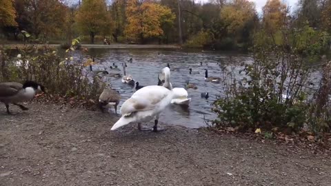
<svg viewBox="0 0 331 186">
<path fill-rule="evenodd" d="M 317 39 L 323 32 L 305 27 L 277 34 L 281 42 L 274 42 L 274 36 L 263 32 L 257 34 L 251 64 L 223 64 L 225 97 L 214 102 L 216 127 L 280 127 L 293 131 L 310 127 L 314 132 L 329 129 L 331 115 L 323 108 L 328 108 L 331 93 L 331 65 L 328 72 L 323 72 L 320 93 L 312 98 L 305 92 L 310 84 L 309 62 L 318 59 L 325 45 L 324 39 Z M 305 37 L 306 43 L 300 37 Z"/>
</svg>

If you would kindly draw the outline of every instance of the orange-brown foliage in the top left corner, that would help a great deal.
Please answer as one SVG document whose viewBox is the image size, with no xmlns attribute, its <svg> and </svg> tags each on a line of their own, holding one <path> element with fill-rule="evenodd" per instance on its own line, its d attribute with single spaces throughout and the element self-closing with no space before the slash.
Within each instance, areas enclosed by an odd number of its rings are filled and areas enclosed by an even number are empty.
<svg viewBox="0 0 331 186">
<path fill-rule="evenodd" d="M 16 10 L 12 0 L 0 0 L 0 27 L 17 26 Z"/>
</svg>

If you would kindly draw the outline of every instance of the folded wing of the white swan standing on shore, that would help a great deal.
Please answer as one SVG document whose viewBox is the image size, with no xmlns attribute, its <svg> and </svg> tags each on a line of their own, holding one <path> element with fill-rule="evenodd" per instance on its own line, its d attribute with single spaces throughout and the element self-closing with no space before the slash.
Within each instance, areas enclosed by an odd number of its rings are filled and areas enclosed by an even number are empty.
<svg viewBox="0 0 331 186">
<path fill-rule="evenodd" d="M 121 114 L 130 115 L 132 112 L 153 110 L 169 92 L 168 89 L 157 85 L 143 87 L 123 103 Z"/>
</svg>

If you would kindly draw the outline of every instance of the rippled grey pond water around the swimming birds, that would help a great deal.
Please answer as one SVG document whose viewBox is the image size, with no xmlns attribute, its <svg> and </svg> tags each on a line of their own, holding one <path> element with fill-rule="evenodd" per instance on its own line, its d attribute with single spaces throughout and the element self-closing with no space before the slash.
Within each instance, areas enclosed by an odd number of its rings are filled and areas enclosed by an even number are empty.
<svg viewBox="0 0 331 186">
<path fill-rule="evenodd" d="M 108 70 L 108 72 L 119 73 L 111 70 L 112 63 L 121 69 L 121 63 L 132 57 L 132 63 L 127 63 L 127 74 L 131 74 L 139 85 L 157 85 L 157 76 L 161 69 L 170 64 L 172 87 L 185 87 L 186 81 L 197 85 L 197 90 L 188 89 L 188 97 L 191 102 L 188 108 L 179 105 L 171 105 L 160 116 L 161 123 L 169 125 L 183 125 L 185 127 L 203 127 L 205 120 L 217 117 L 211 110 L 212 103 L 217 96 L 221 96 L 221 84 L 210 83 L 204 80 L 204 70 L 208 70 L 208 76 L 221 76 L 219 62 L 231 60 L 234 62 L 249 63 L 252 58 L 249 54 L 221 53 L 221 52 L 183 52 L 179 50 L 113 50 L 113 49 L 90 49 L 86 52 L 77 52 L 75 58 L 83 56 L 83 61 L 94 56 L 96 65 L 93 70 Z M 201 65 L 202 62 L 202 65 Z M 176 68 L 174 71 L 172 69 Z M 189 74 L 189 68 L 200 74 Z M 105 79 L 105 78 L 104 78 Z M 121 104 L 130 98 L 134 90 L 129 85 L 122 83 L 121 78 L 106 77 L 105 81 L 120 92 Z M 202 92 L 208 92 L 209 98 L 201 98 Z"/>
</svg>

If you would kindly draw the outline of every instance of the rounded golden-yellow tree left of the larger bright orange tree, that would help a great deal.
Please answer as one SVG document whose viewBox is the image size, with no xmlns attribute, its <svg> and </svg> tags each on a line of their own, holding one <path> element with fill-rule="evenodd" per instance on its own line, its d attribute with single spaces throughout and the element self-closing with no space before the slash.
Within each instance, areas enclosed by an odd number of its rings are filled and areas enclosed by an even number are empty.
<svg viewBox="0 0 331 186">
<path fill-rule="evenodd" d="M 108 34 L 111 30 L 112 20 L 107 11 L 104 0 L 83 0 L 77 14 L 77 24 L 81 32 L 90 35 L 94 43 L 96 34 Z"/>
</svg>

